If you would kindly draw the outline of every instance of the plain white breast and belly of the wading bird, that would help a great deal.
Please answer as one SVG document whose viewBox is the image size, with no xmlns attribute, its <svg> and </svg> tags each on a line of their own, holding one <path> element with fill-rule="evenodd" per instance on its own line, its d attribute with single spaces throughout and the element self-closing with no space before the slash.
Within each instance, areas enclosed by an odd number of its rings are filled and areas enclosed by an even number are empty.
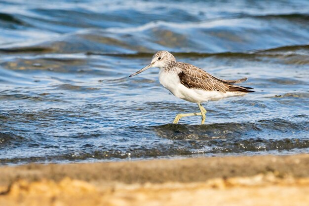
<svg viewBox="0 0 309 206">
<path fill-rule="evenodd" d="M 205 91 L 201 89 L 189 89 L 180 83 L 180 79 L 175 72 L 165 72 L 160 69 L 159 81 L 168 91 L 176 97 L 192 103 L 202 103 L 209 100 L 219 100 L 224 97 L 237 96 L 234 92 L 218 92 L 218 91 Z"/>
</svg>

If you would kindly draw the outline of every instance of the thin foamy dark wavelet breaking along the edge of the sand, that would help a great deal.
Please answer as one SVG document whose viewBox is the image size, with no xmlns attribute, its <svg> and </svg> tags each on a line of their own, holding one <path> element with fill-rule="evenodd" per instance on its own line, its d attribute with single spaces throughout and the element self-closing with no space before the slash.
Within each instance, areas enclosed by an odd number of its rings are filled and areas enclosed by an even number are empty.
<svg viewBox="0 0 309 206">
<path fill-rule="evenodd" d="M 175 142 L 174 142 L 175 143 Z M 38 154 L 31 157 L 12 157 L 10 159 L 0 158 L 0 165 L 21 164 L 21 163 L 44 163 L 44 162 L 71 162 L 71 161 L 102 161 L 102 160 L 119 160 L 127 158 L 154 158 L 154 157 L 171 157 L 181 155 L 194 155 L 196 153 L 205 156 L 213 154 L 237 154 L 265 151 L 289 151 L 304 150 L 308 152 L 309 139 L 283 138 L 283 139 L 262 139 L 249 138 L 238 141 L 223 139 L 210 139 L 207 142 L 198 141 L 180 141 L 175 145 L 154 144 L 154 147 L 148 148 L 131 148 L 131 149 L 94 149 L 91 144 L 84 144 L 83 150 L 63 151 L 55 155 Z"/>
</svg>

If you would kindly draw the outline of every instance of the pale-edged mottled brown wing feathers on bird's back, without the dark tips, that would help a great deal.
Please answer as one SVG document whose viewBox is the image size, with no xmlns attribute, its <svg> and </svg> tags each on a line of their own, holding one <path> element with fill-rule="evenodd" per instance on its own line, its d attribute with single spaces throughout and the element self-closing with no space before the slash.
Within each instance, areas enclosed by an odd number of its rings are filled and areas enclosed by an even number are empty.
<svg viewBox="0 0 309 206">
<path fill-rule="evenodd" d="M 183 85 L 188 88 L 203 89 L 206 91 L 221 91 L 226 93 L 229 91 L 229 85 L 222 81 L 218 81 L 211 74 L 199 69 L 193 65 L 179 63 L 179 78 Z"/>
</svg>

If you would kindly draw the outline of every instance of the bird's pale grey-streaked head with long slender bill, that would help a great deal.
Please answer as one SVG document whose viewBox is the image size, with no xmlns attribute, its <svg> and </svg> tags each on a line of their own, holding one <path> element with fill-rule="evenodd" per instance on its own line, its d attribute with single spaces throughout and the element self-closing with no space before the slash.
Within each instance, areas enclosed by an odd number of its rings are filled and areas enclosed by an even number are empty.
<svg viewBox="0 0 309 206">
<path fill-rule="evenodd" d="M 149 65 L 147 65 L 143 69 L 131 74 L 129 77 L 135 76 L 136 74 L 139 74 L 139 73 L 141 73 L 141 72 L 143 72 L 143 71 L 145 71 L 146 69 L 149 69 L 149 68 L 157 67 L 157 68 L 161 69 L 162 67 L 164 67 L 169 62 L 176 62 L 175 57 L 171 53 L 169 53 L 168 51 L 158 51 L 154 54 L 153 59 L 151 60 L 151 63 Z"/>
</svg>

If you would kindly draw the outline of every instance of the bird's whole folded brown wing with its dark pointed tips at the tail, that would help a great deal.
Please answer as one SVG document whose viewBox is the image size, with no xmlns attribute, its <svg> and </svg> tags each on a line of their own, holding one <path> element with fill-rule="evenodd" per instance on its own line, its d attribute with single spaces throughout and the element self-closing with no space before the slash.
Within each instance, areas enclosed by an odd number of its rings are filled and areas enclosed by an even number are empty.
<svg viewBox="0 0 309 206">
<path fill-rule="evenodd" d="M 205 91 L 221 91 L 226 93 L 230 92 L 252 92 L 247 89 L 249 87 L 241 87 L 238 85 L 232 85 L 232 83 L 239 83 L 247 80 L 242 78 L 238 80 L 223 80 L 212 76 L 206 71 L 199 69 L 193 65 L 187 63 L 178 63 L 178 68 L 181 68 L 182 72 L 178 74 L 180 82 L 188 88 L 203 89 Z"/>
</svg>

